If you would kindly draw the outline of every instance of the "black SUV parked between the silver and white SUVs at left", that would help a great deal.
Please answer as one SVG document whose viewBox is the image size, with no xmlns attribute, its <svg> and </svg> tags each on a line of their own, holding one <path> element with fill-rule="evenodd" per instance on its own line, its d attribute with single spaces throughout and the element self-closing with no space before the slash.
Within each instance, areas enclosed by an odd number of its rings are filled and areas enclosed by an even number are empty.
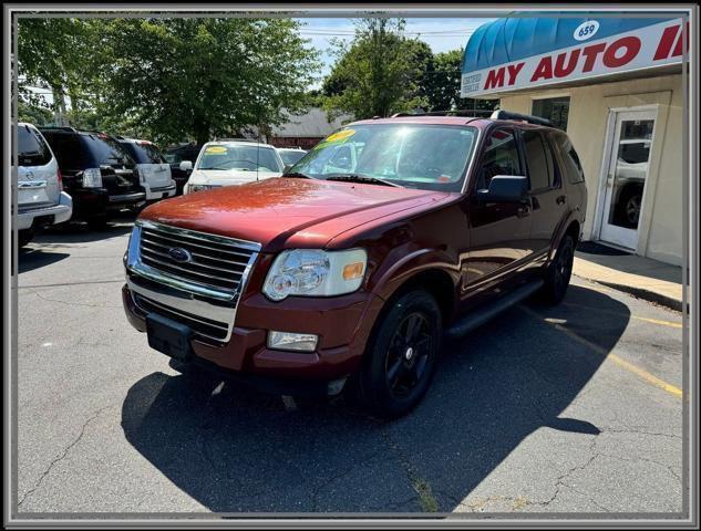
<svg viewBox="0 0 701 531">
<path fill-rule="evenodd" d="M 73 198 L 73 217 L 93 227 L 146 201 L 136 163 L 115 138 L 96 131 L 42 127 L 56 156 L 63 186 Z"/>
</svg>

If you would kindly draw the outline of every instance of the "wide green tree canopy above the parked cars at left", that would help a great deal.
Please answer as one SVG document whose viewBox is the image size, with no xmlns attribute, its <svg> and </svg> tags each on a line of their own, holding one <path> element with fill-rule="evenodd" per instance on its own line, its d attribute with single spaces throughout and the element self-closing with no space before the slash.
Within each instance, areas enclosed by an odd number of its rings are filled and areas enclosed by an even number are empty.
<svg viewBox="0 0 701 531">
<path fill-rule="evenodd" d="M 305 46 L 291 19 L 22 19 L 21 24 L 20 75 L 68 92 L 72 125 L 162 142 L 206 142 L 278 124 L 282 108 L 303 106 L 318 69 L 318 52 Z"/>
</svg>

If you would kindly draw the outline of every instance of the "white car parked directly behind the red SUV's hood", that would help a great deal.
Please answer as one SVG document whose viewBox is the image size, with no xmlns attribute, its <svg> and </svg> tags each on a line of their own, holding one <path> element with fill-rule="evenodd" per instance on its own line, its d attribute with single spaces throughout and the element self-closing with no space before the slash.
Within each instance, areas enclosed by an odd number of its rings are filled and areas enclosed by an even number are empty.
<svg viewBox="0 0 701 531">
<path fill-rule="evenodd" d="M 274 146 L 255 140 L 208 142 L 195 165 L 183 160 L 181 169 L 192 169 L 185 194 L 221 186 L 243 185 L 282 175 L 285 165 Z"/>
</svg>

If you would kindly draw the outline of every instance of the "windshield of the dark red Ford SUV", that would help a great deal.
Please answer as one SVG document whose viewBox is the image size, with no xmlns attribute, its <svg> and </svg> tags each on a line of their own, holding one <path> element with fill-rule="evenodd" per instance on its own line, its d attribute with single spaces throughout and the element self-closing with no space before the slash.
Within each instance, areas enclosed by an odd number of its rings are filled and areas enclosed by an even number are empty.
<svg viewBox="0 0 701 531">
<path fill-rule="evenodd" d="M 465 126 L 355 125 L 321 140 L 288 174 L 460 191 L 476 136 Z"/>
</svg>

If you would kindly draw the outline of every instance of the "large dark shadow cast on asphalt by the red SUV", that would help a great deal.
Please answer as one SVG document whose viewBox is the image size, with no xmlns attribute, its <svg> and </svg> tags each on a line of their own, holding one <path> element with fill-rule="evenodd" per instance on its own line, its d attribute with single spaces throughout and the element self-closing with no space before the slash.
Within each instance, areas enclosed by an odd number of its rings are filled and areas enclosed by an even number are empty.
<svg viewBox="0 0 701 531">
<path fill-rule="evenodd" d="M 627 306 L 574 285 L 567 300 L 597 311 L 530 309 L 578 333 L 590 329 L 591 341 L 612 348 Z M 208 375 L 153 373 L 131 387 L 122 427 L 141 455 L 215 512 L 421 512 L 417 480 L 447 512 L 535 430 L 597 435 L 590 423 L 559 415 L 602 361 L 514 308 L 445 344 L 424 402 L 392 423 L 342 402 L 288 412 L 279 397 L 234 384 L 218 391 Z"/>
</svg>

